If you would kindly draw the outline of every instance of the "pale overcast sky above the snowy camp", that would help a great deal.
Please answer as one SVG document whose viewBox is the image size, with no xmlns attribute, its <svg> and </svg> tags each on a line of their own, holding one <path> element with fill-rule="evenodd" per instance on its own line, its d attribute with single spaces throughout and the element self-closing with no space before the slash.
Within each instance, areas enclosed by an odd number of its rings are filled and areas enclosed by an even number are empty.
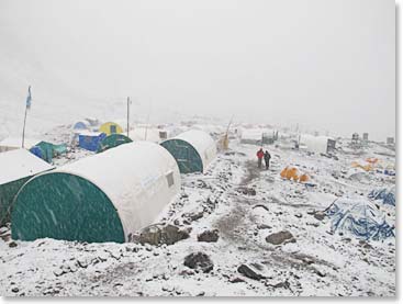
<svg viewBox="0 0 403 304">
<path fill-rule="evenodd" d="M 55 104 L 58 94 L 132 95 L 187 114 L 384 140 L 395 131 L 394 9 L 392 0 L 1 0 L 0 55 L 31 78 L 37 69 L 32 81 Z M 20 83 L 1 77 L 0 94 L 12 95 Z"/>
</svg>

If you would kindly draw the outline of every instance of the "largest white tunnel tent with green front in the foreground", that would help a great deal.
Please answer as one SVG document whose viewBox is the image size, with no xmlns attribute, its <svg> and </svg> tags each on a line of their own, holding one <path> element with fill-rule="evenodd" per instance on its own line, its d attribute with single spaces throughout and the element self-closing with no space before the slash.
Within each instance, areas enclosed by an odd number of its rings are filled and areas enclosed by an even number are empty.
<svg viewBox="0 0 403 304">
<path fill-rule="evenodd" d="M 131 241 L 179 193 L 172 156 L 130 143 L 31 179 L 15 198 L 13 239 Z"/>
</svg>

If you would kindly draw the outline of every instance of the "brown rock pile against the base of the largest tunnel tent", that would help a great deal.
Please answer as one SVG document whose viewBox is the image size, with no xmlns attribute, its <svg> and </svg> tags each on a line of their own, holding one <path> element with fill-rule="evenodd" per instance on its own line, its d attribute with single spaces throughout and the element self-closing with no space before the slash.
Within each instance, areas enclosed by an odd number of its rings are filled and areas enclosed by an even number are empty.
<svg viewBox="0 0 403 304">
<path fill-rule="evenodd" d="M 172 245 L 188 237 L 189 233 L 184 229 L 179 229 L 177 226 L 155 224 L 142 230 L 138 241 L 149 245 Z"/>
</svg>

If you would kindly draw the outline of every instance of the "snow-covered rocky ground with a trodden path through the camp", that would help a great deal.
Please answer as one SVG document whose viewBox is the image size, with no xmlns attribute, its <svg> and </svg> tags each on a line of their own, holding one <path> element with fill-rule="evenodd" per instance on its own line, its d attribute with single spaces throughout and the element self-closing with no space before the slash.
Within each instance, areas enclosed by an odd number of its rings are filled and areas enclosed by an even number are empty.
<svg viewBox="0 0 403 304">
<path fill-rule="evenodd" d="M 314 216 L 337 198 L 366 198 L 393 185 L 394 177 L 376 170 L 351 176 L 351 162 L 378 157 L 394 165 L 394 151 L 374 143 L 355 150 L 344 142 L 336 159 L 282 146 L 267 147 L 269 170 L 257 168 L 257 146 L 233 140 L 205 174 L 182 176 L 180 195 L 157 221 L 190 230 L 173 245 L 19 241 L 2 228 L 0 294 L 394 296 L 395 238 L 333 234 L 329 217 Z M 59 162 L 66 160 L 71 159 Z M 307 173 L 312 187 L 281 179 L 286 166 Z M 379 207 L 394 225 L 394 207 Z M 198 235 L 214 229 L 217 241 L 198 241 Z M 282 230 L 291 233 L 290 241 L 266 240 Z M 208 255 L 213 269 L 184 266 L 192 252 Z M 258 278 L 245 275 L 243 264 Z"/>
</svg>

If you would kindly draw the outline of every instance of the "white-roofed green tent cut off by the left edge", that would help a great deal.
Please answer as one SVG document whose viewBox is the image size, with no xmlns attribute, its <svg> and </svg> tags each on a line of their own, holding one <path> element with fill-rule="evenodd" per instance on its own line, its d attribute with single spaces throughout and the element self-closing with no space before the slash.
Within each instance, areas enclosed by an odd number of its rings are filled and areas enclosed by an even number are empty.
<svg viewBox="0 0 403 304">
<path fill-rule="evenodd" d="M 0 226 L 9 221 L 16 192 L 33 176 L 53 167 L 25 149 L 0 154 Z"/>
</svg>

